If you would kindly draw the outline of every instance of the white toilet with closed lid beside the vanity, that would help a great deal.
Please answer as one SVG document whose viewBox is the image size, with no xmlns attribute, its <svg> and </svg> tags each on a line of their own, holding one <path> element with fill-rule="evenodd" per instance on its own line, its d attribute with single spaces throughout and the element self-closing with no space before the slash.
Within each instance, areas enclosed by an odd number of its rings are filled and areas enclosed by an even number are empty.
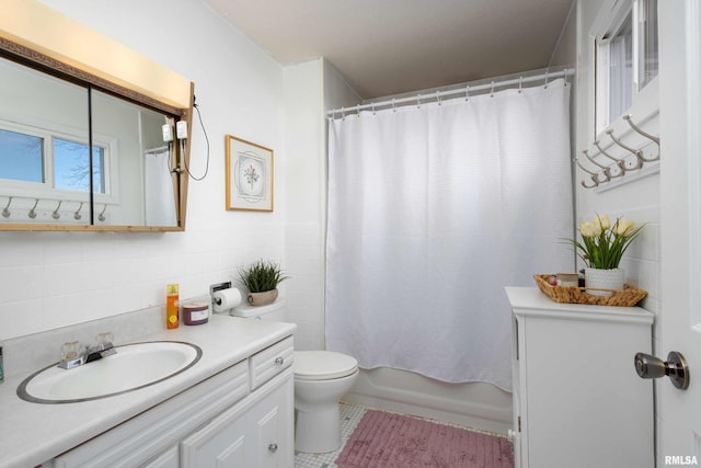
<svg viewBox="0 0 701 468">
<path fill-rule="evenodd" d="M 267 306 L 248 304 L 231 310 L 234 317 L 285 320 L 285 299 Z M 338 401 L 358 377 L 358 362 L 332 351 L 296 351 L 295 362 L 295 450 L 333 452 L 341 446 Z"/>
</svg>

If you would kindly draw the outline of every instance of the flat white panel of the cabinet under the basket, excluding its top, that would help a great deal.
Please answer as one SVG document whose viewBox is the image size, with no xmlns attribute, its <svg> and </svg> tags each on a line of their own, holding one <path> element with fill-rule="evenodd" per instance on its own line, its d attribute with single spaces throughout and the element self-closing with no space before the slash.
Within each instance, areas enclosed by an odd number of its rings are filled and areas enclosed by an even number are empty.
<svg viewBox="0 0 701 468">
<path fill-rule="evenodd" d="M 651 467 L 652 385 L 632 364 L 650 326 L 529 317 L 524 330 L 528 466 Z"/>
</svg>

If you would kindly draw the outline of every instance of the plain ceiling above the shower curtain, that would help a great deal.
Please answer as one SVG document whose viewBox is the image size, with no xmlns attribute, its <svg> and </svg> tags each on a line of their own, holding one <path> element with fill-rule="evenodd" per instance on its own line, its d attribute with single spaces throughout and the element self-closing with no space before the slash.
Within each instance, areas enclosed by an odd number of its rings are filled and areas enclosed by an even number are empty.
<svg viewBox="0 0 701 468">
<path fill-rule="evenodd" d="M 363 98 L 545 68 L 573 0 L 204 0 L 283 65 L 324 57 Z"/>
</svg>

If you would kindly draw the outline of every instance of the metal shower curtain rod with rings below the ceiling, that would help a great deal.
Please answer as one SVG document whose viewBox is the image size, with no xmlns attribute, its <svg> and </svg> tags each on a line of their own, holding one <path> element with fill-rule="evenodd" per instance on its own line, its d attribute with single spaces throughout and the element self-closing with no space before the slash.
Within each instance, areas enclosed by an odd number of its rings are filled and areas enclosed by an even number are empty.
<svg viewBox="0 0 701 468">
<path fill-rule="evenodd" d="M 521 84 L 533 82 L 533 81 L 544 80 L 547 85 L 548 82 L 552 79 L 563 78 L 563 77 L 566 79 L 566 77 L 570 77 L 573 75 L 574 75 L 574 69 L 565 68 L 562 71 L 554 71 L 552 73 L 545 72 L 541 75 L 533 75 L 531 77 L 518 77 L 515 79 L 509 79 L 504 81 L 493 80 L 489 83 L 475 84 L 473 87 L 471 87 L 468 83 L 462 88 L 456 88 L 456 89 L 446 90 L 446 91 L 436 91 L 427 94 L 416 93 L 415 95 L 409 96 L 409 98 L 391 99 L 386 101 L 371 102 L 369 104 L 358 104 L 349 107 L 332 109 L 331 111 L 326 112 L 326 115 L 330 118 L 333 118 L 336 114 L 341 114 L 342 116 L 345 116 L 346 113 L 348 114 L 359 113 L 360 111 L 365 111 L 368 109 L 376 111 L 378 110 L 378 107 L 394 107 L 398 104 L 407 104 L 407 103 L 421 104 L 422 99 L 423 100 L 428 100 L 428 99 L 440 100 L 444 96 L 453 95 L 453 94 L 464 94 L 466 98 L 469 98 L 471 92 L 484 91 L 484 90 L 491 90 L 491 92 L 494 92 L 494 89 L 497 87 L 504 88 L 504 87 L 510 87 L 514 84 L 518 84 L 520 88 Z"/>
</svg>

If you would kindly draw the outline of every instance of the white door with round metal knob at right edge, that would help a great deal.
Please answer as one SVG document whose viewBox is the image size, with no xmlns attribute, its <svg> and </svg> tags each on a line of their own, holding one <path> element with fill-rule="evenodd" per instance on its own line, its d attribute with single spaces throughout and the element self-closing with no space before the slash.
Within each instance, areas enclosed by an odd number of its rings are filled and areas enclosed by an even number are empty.
<svg viewBox="0 0 701 468">
<path fill-rule="evenodd" d="M 655 349 L 690 385 L 657 388 L 657 466 L 701 466 L 701 2 L 659 1 L 662 310 Z"/>
</svg>

